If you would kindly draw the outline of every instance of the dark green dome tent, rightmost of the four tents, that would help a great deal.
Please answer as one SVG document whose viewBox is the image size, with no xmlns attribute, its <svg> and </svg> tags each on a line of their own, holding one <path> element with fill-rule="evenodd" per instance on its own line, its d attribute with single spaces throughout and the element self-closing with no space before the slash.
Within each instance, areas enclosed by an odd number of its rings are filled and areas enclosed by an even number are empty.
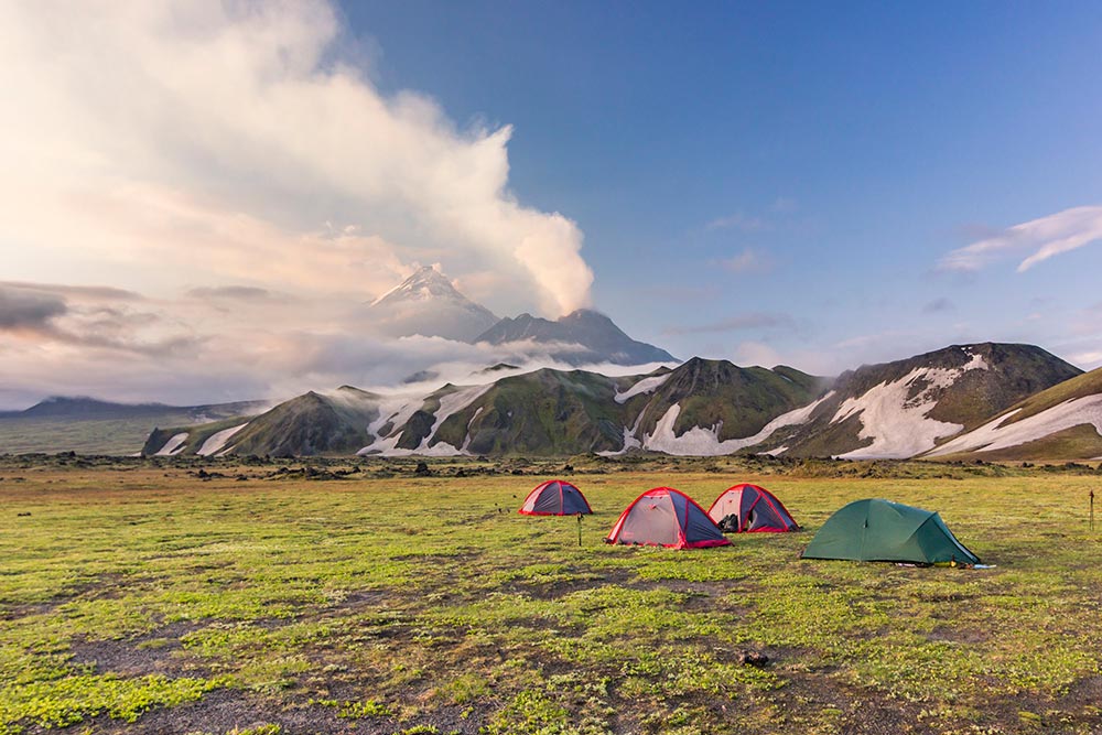
<svg viewBox="0 0 1102 735">
<path fill-rule="evenodd" d="M 876 499 L 854 500 L 828 518 L 802 556 L 916 564 L 980 563 L 938 514 Z"/>
</svg>

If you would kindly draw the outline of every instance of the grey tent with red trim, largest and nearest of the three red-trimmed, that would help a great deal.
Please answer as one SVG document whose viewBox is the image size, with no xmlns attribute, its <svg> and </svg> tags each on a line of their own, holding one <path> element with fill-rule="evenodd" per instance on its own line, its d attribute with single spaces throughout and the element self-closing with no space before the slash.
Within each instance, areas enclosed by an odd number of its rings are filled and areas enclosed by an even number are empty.
<svg viewBox="0 0 1102 735">
<path fill-rule="evenodd" d="M 641 543 L 672 549 L 731 543 L 696 501 L 672 487 L 656 487 L 629 505 L 606 543 Z"/>
</svg>

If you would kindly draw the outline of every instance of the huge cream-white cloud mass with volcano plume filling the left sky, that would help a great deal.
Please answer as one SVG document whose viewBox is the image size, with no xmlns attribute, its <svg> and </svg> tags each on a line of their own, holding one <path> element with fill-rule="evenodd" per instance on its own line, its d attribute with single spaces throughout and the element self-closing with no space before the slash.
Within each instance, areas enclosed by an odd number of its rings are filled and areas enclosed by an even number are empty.
<svg viewBox="0 0 1102 735">
<path fill-rule="evenodd" d="M 382 94 L 327 2 L 0 3 L 0 385 L 206 402 L 496 356 L 364 304 L 440 263 L 497 313 L 590 304 L 509 126 Z M 9 406 L 10 408 L 11 406 Z"/>
</svg>

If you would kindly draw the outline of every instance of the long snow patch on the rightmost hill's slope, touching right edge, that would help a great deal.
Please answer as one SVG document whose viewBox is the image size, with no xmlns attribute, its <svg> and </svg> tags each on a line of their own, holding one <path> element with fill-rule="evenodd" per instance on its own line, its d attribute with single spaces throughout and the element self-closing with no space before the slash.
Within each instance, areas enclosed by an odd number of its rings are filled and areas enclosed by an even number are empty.
<svg viewBox="0 0 1102 735">
<path fill-rule="evenodd" d="M 958 436 L 930 452 L 927 456 L 942 456 L 954 452 L 1005 450 L 1056 432 L 1090 424 L 1102 435 L 1102 394 L 1069 399 L 1040 413 L 1007 423 L 1020 409 L 1001 415 L 963 436 Z"/>
</svg>

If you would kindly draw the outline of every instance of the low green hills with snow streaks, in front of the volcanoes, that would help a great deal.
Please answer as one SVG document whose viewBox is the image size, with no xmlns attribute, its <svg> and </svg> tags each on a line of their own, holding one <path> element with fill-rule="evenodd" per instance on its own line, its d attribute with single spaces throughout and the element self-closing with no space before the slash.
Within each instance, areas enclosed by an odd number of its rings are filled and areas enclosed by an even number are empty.
<svg viewBox="0 0 1102 735">
<path fill-rule="evenodd" d="M 1093 458 L 1102 456 L 1100 374 L 1039 347 L 994 343 L 836 378 L 701 358 L 624 377 L 544 368 L 423 396 L 311 392 L 255 418 L 158 430 L 142 451 L 857 460 L 982 456 L 990 444 L 1004 455 L 1015 448 L 1015 458 Z"/>
</svg>

